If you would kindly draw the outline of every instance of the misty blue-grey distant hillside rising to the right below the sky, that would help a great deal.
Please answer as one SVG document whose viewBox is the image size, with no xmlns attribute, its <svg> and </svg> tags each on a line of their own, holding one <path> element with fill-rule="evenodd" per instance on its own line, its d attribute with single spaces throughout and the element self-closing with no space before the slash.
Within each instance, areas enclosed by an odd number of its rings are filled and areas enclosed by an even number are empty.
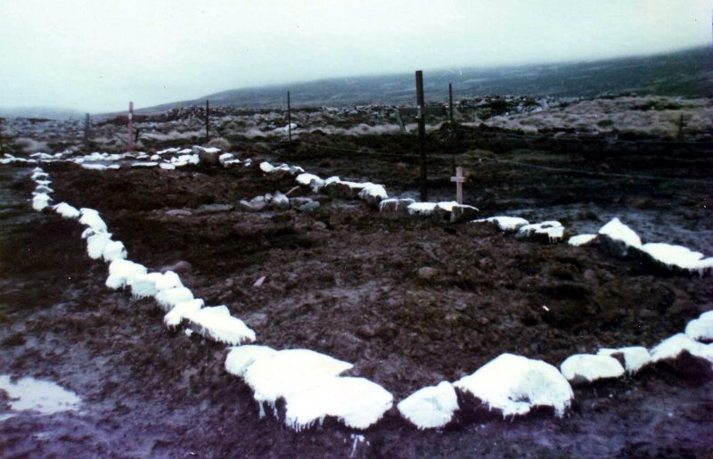
<svg viewBox="0 0 713 459">
<path fill-rule="evenodd" d="M 424 71 L 426 99 L 444 101 L 448 83 L 456 100 L 479 94 L 593 97 L 601 94 L 661 94 L 685 97 L 713 95 L 713 46 L 676 53 L 605 61 Z M 295 106 L 340 106 L 366 103 L 414 103 L 414 73 L 378 77 L 331 78 L 291 85 L 233 89 L 195 101 L 174 102 L 143 112 L 202 104 L 259 109 L 279 108 L 291 91 Z"/>
</svg>

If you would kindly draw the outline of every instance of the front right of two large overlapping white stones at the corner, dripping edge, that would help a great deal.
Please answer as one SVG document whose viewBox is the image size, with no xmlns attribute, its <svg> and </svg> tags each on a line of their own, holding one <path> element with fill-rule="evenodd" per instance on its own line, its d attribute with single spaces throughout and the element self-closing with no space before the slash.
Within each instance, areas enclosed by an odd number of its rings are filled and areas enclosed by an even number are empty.
<svg viewBox="0 0 713 459">
<path fill-rule="evenodd" d="M 285 423 L 302 430 L 333 416 L 352 429 L 378 422 L 392 406 L 393 396 L 364 378 L 327 378 L 320 384 L 285 397 Z"/>
</svg>

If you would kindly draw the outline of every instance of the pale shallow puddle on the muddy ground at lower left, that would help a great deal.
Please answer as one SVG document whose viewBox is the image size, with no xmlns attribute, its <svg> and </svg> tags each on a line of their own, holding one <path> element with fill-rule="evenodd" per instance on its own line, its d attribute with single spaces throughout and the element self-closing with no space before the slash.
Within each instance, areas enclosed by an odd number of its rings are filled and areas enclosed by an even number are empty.
<svg viewBox="0 0 713 459">
<path fill-rule="evenodd" d="M 7 392 L 13 411 L 37 411 L 54 414 L 77 410 L 81 399 L 71 390 L 63 389 L 52 381 L 22 378 L 12 382 L 7 374 L 0 375 L 0 390 Z M 0 422 L 13 414 L 0 415 Z"/>
</svg>

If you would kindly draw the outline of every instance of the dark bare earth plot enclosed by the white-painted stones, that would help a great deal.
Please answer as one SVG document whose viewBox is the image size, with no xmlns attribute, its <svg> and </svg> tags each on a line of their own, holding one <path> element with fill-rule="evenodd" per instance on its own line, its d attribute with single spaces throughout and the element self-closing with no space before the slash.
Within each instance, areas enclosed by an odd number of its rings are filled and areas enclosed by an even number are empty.
<svg viewBox="0 0 713 459">
<path fill-rule="evenodd" d="M 208 174 L 54 168 L 55 199 L 100 210 L 132 259 L 184 266 L 196 298 L 225 304 L 260 344 L 351 362 L 348 374 L 396 400 L 503 353 L 559 366 L 599 348 L 651 348 L 711 297 L 709 279 L 655 275 L 491 225 L 377 213 L 307 188 L 291 197 L 311 196 L 317 209 L 246 209 L 240 201 L 294 185 L 257 164 Z"/>
</svg>

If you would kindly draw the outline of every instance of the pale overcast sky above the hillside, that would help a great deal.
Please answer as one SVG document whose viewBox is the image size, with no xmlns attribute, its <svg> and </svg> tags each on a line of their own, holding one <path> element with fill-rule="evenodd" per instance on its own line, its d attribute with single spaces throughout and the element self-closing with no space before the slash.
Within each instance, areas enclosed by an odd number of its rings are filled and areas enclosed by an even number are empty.
<svg viewBox="0 0 713 459">
<path fill-rule="evenodd" d="M 0 0 L 0 107 L 119 111 L 316 78 L 658 53 L 710 0 Z"/>
</svg>

